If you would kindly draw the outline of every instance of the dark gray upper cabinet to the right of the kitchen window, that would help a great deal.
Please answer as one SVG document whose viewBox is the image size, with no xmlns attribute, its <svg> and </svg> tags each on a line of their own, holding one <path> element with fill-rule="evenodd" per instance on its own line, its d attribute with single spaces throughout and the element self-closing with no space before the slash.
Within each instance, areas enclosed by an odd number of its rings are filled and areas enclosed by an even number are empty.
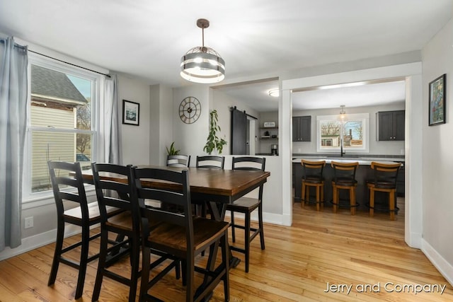
<svg viewBox="0 0 453 302">
<path fill-rule="evenodd" d="M 377 112 L 377 140 L 404 140 L 404 110 Z"/>
</svg>

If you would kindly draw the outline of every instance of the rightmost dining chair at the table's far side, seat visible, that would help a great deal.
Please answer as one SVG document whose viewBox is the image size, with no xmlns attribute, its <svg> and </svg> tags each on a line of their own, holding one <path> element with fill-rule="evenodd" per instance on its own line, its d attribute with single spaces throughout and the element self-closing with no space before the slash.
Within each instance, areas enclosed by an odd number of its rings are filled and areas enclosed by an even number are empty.
<svg viewBox="0 0 453 302">
<path fill-rule="evenodd" d="M 265 169 L 265 158 L 243 156 L 234 157 L 232 159 L 233 170 L 262 170 Z M 251 214 L 253 211 L 258 209 L 258 227 L 251 227 Z M 250 243 L 256 237 L 260 236 L 261 250 L 265 249 L 264 245 L 264 232 L 263 232 L 263 185 L 260 185 L 258 189 L 258 198 L 241 197 L 234 201 L 232 204 L 226 204 L 226 210 L 231 211 L 231 236 L 233 243 L 236 242 L 235 228 L 241 228 L 244 230 L 244 247 L 240 248 L 235 245 L 231 245 L 231 250 L 236 252 L 242 252 L 246 258 L 246 272 L 250 266 Z M 234 221 L 234 213 L 244 214 L 245 222 L 243 225 Z M 253 232 L 253 233 L 251 233 Z"/>
</svg>

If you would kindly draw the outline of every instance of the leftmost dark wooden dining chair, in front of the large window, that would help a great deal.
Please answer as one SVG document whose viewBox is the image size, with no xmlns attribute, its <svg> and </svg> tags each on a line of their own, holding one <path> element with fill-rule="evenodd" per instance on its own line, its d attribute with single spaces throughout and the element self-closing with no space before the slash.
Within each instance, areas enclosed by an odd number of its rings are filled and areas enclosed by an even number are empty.
<svg viewBox="0 0 453 302">
<path fill-rule="evenodd" d="M 88 255 L 88 249 L 90 241 L 101 236 L 101 233 L 90 236 L 90 227 L 101 222 L 101 214 L 98 202 L 89 204 L 87 202 L 79 162 L 49 161 L 47 166 L 49 168 L 55 205 L 57 206 L 57 240 L 55 241 L 55 253 L 47 285 L 55 284 L 60 263 L 74 267 L 79 270 L 76 294 L 74 296 L 74 298 L 78 299 L 84 291 L 86 266 L 88 262 L 99 257 L 99 253 Z M 76 207 L 72 207 L 74 205 Z M 120 210 L 112 207 L 105 209 L 105 216 L 114 216 L 119 213 Z M 63 248 L 65 223 L 81 226 L 81 240 Z M 79 247 L 81 249 L 79 262 L 66 257 L 67 254 L 65 255 L 65 253 Z"/>
</svg>

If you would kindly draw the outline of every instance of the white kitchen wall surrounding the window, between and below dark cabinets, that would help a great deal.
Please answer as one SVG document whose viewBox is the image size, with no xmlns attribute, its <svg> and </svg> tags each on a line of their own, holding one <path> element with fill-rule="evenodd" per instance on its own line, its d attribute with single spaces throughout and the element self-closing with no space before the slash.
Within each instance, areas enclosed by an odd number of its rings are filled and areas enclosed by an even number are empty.
<svg viewBox="0 0 453 302">
<path fill-rule="evenodd" d="M 377 141 L 376 134 L 376 113 L 379 111 L 404 110 L 405 103 L 396 103 L 385 106 L 367 106 L 345 108 L 346 115 L 353 113 L 369 113 L 369 154 L 379 155 L 403 155 L 404 141 Z M 293 116 L 311 115 L 311 141 L 294 141 L 292 143 L 293 153 L 316 153 L 316 116 L 317 115 L 338 115 L 338 109 L 319 110 L 298 110 L 293 111 Z"/>
</svg>

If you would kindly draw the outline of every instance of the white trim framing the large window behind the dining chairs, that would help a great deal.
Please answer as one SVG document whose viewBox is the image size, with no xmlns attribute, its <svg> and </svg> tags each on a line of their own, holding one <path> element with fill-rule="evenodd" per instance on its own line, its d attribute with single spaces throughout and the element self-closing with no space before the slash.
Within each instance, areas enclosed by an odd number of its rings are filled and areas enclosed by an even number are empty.
<svg viewBox="0 0 453 302">
<path fill-rule="evenodd" d="M 99 110 L 99 103 L 101 100 L 102 91 L 101 88 L 104 87 L 105 83 L 105 76 L 102 74 L 96 74 L 92 71 L 87 71 L 83 68 L 72 66 L 71 64 L 64 64 L 62 62 L 55 61 L 53 59 L 47 59 L 42 57 L 38 54 L 33 54 L 29 52 L 28 54 L 28 83 L 31 83 L 31 72 L 30 66 L 31 65 L 38 65 L 42 66 L 47 69 L 53 69 L 55 71 L 63 72 L 64 74 L 71 74 L 74 76 L 79 76 L 84 79 L 88 79 L 93 81 L 93 85 L 91 86 L 91 124 L 92 129 L 91 131 L 87 130 L 75 130 L 72 132 L 89 132 L 93 134 L 93 146 L 92 146 L 92 153 L 91 153 L 91 161 L 96 161 L 96 155 L 98 153 L 98 131 L 99 131 L 99 124 L 100 124 L 100 115 L 98 115 Z M 38 202 L 45 204 L 53 202 L 53 192 L 52 190 L 44 191 L 44 192 L 31 192 L 31 130 L 33 131 L 52 131 L 50 129 L 42 129 L 42 127 L 31 127 L 30 122 L 30 96 L 31 96 L 31 88 L 30 84 L 28 85 L 28 104 L 27 104 L 27 132 L 25 134 L 25 149 L 24 149 L 24 170 L 23 170 L 23 181 L 22 181 L 22 204 L 27 204 L 30 202 Z M 86 185 L 86 193 L 88 196 L 94 194 L 94 187 L 93 185 Z M 48 199 L 50 202 L 46 202 Z M 30 205 L 24 206 L 30 207 Z"/>
</svg>

